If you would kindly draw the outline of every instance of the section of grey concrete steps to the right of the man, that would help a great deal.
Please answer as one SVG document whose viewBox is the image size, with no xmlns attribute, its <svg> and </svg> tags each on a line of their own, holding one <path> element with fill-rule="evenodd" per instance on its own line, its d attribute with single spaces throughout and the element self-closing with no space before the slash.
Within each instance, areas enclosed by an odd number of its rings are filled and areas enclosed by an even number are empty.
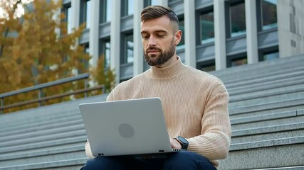
<svg viewBox="0 0 304 170">
<path fill-rule="evenodd" d="M 231 147 L 219 169 L 304 169 L 304 55 L 211 74 L 231 96 Z"/>
</svg>

